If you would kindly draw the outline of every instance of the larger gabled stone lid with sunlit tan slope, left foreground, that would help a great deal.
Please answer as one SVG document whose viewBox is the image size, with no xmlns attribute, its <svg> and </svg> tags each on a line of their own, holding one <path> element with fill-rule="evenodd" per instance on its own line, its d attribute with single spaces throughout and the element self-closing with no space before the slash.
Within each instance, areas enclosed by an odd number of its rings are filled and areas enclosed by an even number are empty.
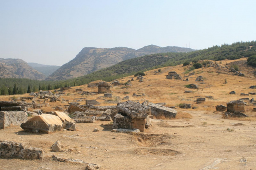
<svg viewBox="0 0 256 170">
<path fill-rule="evenodd" d="M 28 132 L 52 133 L 62 130 L 62 120 L 59 116 L 52 114 L 41 114 L 34 116 L 25 123 L 21 123 L 21 128 Z"/>
</svg>

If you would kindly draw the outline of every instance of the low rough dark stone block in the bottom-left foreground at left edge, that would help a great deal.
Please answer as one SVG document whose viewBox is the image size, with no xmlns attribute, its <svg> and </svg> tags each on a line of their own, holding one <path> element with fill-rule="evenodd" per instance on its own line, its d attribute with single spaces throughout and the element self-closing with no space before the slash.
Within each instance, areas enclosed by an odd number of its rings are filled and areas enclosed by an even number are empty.
<svg viewBox="0 0 256 170">
<path fill-rule="evenodd" d="M 39 148 L 25 147 L 21 143 L 12 141 L 0 142 L 0 157 L 2 158 L 25 158 L 43 159 L 44 151 Z"/>
</svg>

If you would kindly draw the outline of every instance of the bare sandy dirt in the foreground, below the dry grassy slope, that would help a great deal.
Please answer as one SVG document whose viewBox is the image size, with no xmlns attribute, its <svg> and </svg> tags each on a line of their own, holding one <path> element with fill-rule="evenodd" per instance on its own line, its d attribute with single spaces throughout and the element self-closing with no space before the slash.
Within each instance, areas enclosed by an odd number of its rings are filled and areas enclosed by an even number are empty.
<svg viewBox="0 0 256 170">
<path fill-rule="evenodd" d="M 221 119 L 220 114 L 211 112 L 187 112 L 192 114 L 192 119 L 154 121 L 149 130 L 138 135 L 113 133 L 109 122 L 100 121 L 77 124 L 78 131 L 52 134 L 26 133 L 18 126 L 11 126 L 0 130 L 0 140 L 43 148 L 46 158 L 33 161 L 0 159 L 0 170 L 85 169 L 85 165 L 52 161 L 50 157 L 54 154 L 96 163 L 104 170 L 256 167 L 255 121 Z M 92 132 L 94 128 L 99 128 L 100 132 Z M 137 137 L 143 142 L 138 142 Z M 56 140 L 60 140 L 66 152 L 50 151 Z"/>
</svg>

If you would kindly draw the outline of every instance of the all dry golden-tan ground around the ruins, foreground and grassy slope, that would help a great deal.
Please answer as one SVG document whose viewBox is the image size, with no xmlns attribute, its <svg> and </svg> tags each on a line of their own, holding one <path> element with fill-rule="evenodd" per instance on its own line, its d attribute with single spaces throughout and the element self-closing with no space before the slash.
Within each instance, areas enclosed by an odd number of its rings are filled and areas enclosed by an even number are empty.
<svg viewBox="0 0 256 170">
<path fill-rule="evenodd" d="M 222 61 L 220 65 L 232 65 L 234 61 Z M 243 59 L 235 61 L 244 62 Z M 238 64 L 237 64 L 238 65 Z M 188 68 L 189 66 L 187 66 Z M 42 148 L 45 151 L 43 160 L 0 159 L 0 170 L 6 169 L 85 169 L 85 165 L 62 163 L 52 161 L 51 156 L 61 158 L 81 159 L 88 163 L 101 165 L 103 170 L 126 170 L 126 169 L 201 169 L 201 170 L 234 170 L 255 169 L 256 167 L 256 112 L 251 112 L 253 106 L 245 106 L 245 114 L 249 119 L 223 119 L 223 112 L 216 112 L 216 105 L 226 105 L 231 100 L 255 95 L 241 96 L 240 93 L 256 92 L 249 86 L 256 85 L 255 68 L 243 68 L 241 72 L 245 77 L 232 75 L 228 69 L 201 68 L 194 70 L 195 75 L 189 77 L 189 82 L 175 79 L 166 79 L 168 71 L 176 71 L 184 76 L 185 67 L 161 68 L 146 72 L 143 82 L 137 80 L 131 82 L 132 86 L 112 88 L 113 96 L 123 98 L 130 96 L 130 100 L 142 102 L 166 102 L 168 106 L 175 106 L 178 111 L 177 119 L 164 119 L 153 121 L 153 126 L 140 134 L 126 134 L 111 132 L 112 124 L 108 121 L 97 123 L 77 123 L 77 131 L 61 131 L 52 134 L 28 133 L 19 126 L 10 126 L 0 130 L 0 140 L 24 143 L 26 146 Z M 188 75 L 185 74 L 185 75 Z M 194 80 L 199 75 L 204 77 L 205 84 L 199 84 Z M 120 79 L 125 83 L 130 77 Z M 224 84 L 227 79 L 227 84 Z M 184 93 L 186 84 L 198 84 L 198 90 L 193 93 Z M 149 86 L 150 85 L 150 86 Z M 96 88 L 81 86 L 83 91 L 97 91 Z M 230 95 L 230 91 L 236 94 Z M 124 93 L 126 92 L 126 94 Z M 133 93 L 146 96 L 132 97 Z M 206 102 L 195 104 L 194 100 L 199 97 L 211 95 L 213 99 L 206 98 Z M 66 91 L 64 99 L 76 101 L 75 98 L 96 99 L 102 94 L 93 96 L 81 96 L 75 92 L 75 88 Z M 16 97 L 19 97 L 17 95 Z M 0 100 L 9 100 L 8 97 L 0 97 Z M 113 97 L 113 100 L 115 98 Z M 101 105 L 104 100 L 97 100 Z M 125 101 L 125 100 L 122 100 Z M 81 102 L 85 104 L 85 101 Z M 180 103 L 190 103 L 197 109 L 180 109 Z M 68 104 L 50 103 L 51 107 L 43 108 L 52 111 L 52 107 L 60 105 L 67 107 Z M 112 104 L 115 105 L 115 104 Z M 184 118 L 184 119 L 182 119 Z M 92 132 L 94 128 L 99 132 Z M 115 138 L 114 138 L 115 137 Z M 142 139 L 142 142 L 137 140 Z M 65 152 L 52 152 L 50 147 L 59 140 Z M 72 150 L 72 151 L 71 151 Z"/>
</svg>

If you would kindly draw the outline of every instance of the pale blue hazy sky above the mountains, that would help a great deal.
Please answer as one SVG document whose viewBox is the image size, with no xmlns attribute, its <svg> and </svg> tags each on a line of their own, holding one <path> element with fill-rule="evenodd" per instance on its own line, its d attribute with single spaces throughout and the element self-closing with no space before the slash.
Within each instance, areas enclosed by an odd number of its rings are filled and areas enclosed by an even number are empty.
<svg viewBox="0 0 256 170">
<path fill-rule="evenodd" d="M 0 0 L 0 58 L 63 65 L 83 47 L 256 40 L 256 0 Z"/>
</svg>

